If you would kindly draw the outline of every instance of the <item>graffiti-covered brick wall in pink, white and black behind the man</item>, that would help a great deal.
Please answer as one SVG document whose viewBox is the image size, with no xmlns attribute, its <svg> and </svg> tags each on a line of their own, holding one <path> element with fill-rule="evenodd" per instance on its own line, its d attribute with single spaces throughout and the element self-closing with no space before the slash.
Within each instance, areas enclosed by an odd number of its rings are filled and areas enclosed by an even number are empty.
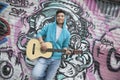
<svg viewBox="0 0 120 80">
<path fill-rule="evenodd" d="M 71 33 L 55 80 L 120 80 L 120 1 L 117 0 L 1 0 L 0 80 L 32 80 L 36 60 L 26 56 L 27 43 L 66 11 Z"/>
</svg>

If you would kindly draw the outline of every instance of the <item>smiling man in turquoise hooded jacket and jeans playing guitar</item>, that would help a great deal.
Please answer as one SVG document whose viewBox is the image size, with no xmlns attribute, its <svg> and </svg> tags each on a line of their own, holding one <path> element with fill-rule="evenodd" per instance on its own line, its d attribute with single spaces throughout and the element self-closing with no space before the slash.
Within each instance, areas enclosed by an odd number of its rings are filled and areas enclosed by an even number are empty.
<svg viewBox="0 0 120 80">
<path fill-rule="evenodd" d="M 37 34 L 41 50 L 46 51 L 45 42 L 51 42 L 53 49 L 65 49 L 65 54 L 70 54 L 71 52 L 67 49 L 70 33 L 66 26 L 65 12 L 58 10 L 55 22 L 45 25 Z M 45 37 L 44 40 L 43 37 Z M 33 80 L 53 80 L 61 62 L 61 56 L 62 52 L 53 52 L 49 59 L 39 58 L 32 71 Z"/>
</svg>

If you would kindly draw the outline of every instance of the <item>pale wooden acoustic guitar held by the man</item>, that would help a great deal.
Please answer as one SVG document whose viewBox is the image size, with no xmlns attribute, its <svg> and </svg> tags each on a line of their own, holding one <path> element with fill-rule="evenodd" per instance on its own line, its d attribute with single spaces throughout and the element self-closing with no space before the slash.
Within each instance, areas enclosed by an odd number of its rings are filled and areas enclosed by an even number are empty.
<svg viewBox="0 0 120 80">
<path fill-rule="evenodd" d="M 65 52 L 66 50 L 64 49 L 53 49 L 52 44 L 50 42 L 45 42 L 47 45 L 47 51 L 43 52 L 41 51 L 41 44 L 39 40 L 37 39 L 31 39 L 28 41 L 27 46 L 26 46 L 26 56 L 30 60 L 37 59 L 39 57 L 44 57 L 44 58 L 50 58 L 52 56 L 52 52 Z M 81 53 L 79 50 L 70 50 L 72 53 Z"/>
</svg>

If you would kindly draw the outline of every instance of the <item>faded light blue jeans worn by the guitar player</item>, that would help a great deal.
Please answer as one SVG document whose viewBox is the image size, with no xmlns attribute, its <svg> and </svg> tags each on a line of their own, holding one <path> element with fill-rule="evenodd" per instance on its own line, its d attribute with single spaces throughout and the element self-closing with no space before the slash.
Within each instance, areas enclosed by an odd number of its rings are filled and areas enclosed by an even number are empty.
<svg viewBox="0 0 120 80">
<path fill-rule="evenodd" d="M 53 80 L 61 59 L 40 58 L 32 70 L 33 80 Z"/>
</svg>

